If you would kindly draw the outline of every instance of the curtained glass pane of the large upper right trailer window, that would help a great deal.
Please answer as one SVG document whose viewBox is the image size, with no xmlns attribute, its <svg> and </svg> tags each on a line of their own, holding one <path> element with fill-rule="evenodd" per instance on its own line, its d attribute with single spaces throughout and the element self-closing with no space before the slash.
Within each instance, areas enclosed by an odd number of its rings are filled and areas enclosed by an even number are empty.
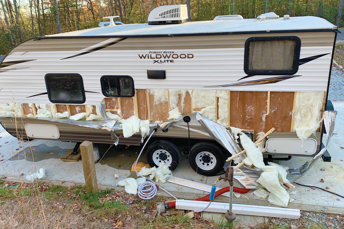
<svg viewBox="0 0 344 229">
<path fill-rule="evenodd" d="M 250 41 L 248 70 L 253 72 L 292 72 L 297 42 L 294 40 Z"/>
</svg>

